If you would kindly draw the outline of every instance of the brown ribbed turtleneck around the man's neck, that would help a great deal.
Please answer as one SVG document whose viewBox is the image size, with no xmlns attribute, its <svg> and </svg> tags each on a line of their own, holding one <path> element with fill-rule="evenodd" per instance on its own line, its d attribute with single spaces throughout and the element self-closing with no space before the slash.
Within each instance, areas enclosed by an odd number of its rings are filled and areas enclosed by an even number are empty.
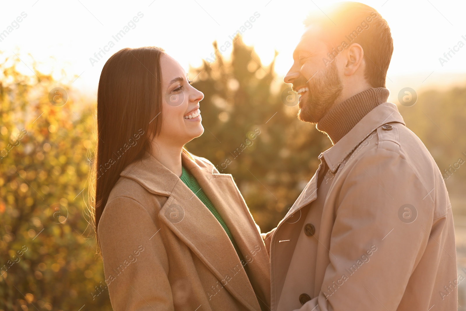
<svg viewBox="0 0 466 311">
<path fill-rule="evenodd" d="M 327 133 L 332 144 L 343 138 L 372 109 L 386 103 L 390 91 L 385 88 L 370 88 L 349 97 L 332 107 L 315 126 Z"/>
</svg>

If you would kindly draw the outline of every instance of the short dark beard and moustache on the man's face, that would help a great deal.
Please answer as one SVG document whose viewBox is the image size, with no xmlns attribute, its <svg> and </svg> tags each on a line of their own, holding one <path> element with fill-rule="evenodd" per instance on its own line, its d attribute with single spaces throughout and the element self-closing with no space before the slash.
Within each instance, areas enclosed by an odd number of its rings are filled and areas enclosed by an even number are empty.
<svg viewBox="0 0 466 311">
<path fill-rule="evenodd" d="M 329 112 L 343 90 L 335 62 L 330 64 L 329 69 L 311 78 L 308 83 L 304 77 L 299 77 L 293 82 L 293 87 L 295 85 L 298 88 L 306 85 L 309 89 L 305 94 L 306 99 L 302 98 L 299 103 L 298 118 L 313 124 L 317 124 Z"/>
</svg>

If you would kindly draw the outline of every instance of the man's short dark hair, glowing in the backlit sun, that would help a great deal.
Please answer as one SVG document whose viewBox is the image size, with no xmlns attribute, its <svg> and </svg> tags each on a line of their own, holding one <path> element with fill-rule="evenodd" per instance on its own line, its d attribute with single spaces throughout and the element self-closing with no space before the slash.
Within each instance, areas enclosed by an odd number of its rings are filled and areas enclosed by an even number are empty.
<svg viewBox="0 0 466 311">
<path fill-rule="evenodd" d="M 393 39 L 387 21 L 372 7 L 359 2 L 338 2 L 328 9 L 309 14 L 304 25 L 319 25 L 322 41 L 329 47 L 328 61 L 353 43 L 364 51 L 364 77 L 372 87 L 385 87 L 393 53 Z M 346 42 L 343 44 L 343 42 Z"/>
</svg>

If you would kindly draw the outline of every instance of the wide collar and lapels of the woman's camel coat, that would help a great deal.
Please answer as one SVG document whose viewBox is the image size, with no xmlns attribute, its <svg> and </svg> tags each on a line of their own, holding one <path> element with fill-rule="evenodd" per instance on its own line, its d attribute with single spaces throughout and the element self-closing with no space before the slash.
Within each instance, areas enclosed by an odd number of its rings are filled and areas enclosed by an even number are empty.
<svg viewBox="0 0 466 311">
<path fill-rule="evenodd" d="M 266 295 L 265 299 L 269 300 L 269 257 L 260 235 L 251 234 L 252 230 L 257 230 L 254 221 L 245 213 L 239 213 L 237 208 L 232 208 L 232 206 L 240 206 L 247 210 L 246 205 L 241 206 L 242 202 L 236 193 L 237 188 L 232 175 L 215 173 L 214 166 L 210 162 L 202 161 L 202 158 L 198 157 L 193 158 L 185 152 L 182 152 L 181 158 L 183 166 L 196 178 L 199 186 L 225 221 L 242 255 L 253 258 L 253 261 L 247 265 L 250 267 L 250 275 L 259 282 L 254 289 L 257 290 L 259 287 Z M 198 160 L 202 161 L 201 165 L 198 164 Z M 251 285 L 244 286 L 250 280 L 225 230 L 212 212 L 176 174 L 146 152 L 142 160 L 130 164 L 120 175 L 137 181 L 153 194 L 168 197 L 158 213 L 158 218 L 219 279 L 218 283 L 211 284 L 212 289 L 218 290 L 218 286 L 223 285 L 233 297 L 247 307 L 247 310 L 260 310 L 258 304 L 260 298 L 256 298 Z M 245 230 L 246 226 L 249 230 Z M 256 245 L 260 246 L 260 251 L 257 251 Z M 255 253 L 254 257 L 251 255 L 252 252 Z M 230 276 L 231 280 L 227 276 Z M 215 293 L 216 291 L 212 290 L 211 294 Z"/>
</svg>

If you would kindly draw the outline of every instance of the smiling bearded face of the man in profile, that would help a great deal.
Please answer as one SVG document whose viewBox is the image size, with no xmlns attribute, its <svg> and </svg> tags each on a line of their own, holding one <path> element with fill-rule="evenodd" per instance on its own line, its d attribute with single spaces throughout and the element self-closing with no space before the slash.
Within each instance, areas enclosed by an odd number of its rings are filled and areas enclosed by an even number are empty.
<svg viewBox="0 0 466 311">
<path fill-rule="evenodd" d="M 283 79 L 293 83 L 293 90 L 300 94 L 298 118 L 316 124 L 329 111 L 341 95 L 343 84 L 331 60 L 329 48 L 320 39 L 318 26 L 308 26 L 293 52 L 293 66 Z M 328 61 L 324 62 L 324 58 Z"/>
</svg>

